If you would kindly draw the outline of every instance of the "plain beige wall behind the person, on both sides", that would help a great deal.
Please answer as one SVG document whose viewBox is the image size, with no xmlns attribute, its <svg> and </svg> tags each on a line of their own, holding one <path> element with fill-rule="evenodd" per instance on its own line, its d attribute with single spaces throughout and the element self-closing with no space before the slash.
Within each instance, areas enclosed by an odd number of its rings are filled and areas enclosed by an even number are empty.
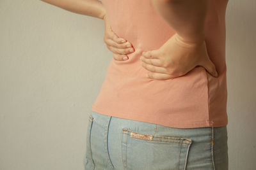
<svg viewBox="0 0 256 170">
<path fill-rule="evenodd" d="M 227 8 L 228 158 L 256 169 L 256 1 Z M 82 170 L 88 115 L 112 53 L 104 21 L 0 0 L 0 170 Z"/>
</svg>

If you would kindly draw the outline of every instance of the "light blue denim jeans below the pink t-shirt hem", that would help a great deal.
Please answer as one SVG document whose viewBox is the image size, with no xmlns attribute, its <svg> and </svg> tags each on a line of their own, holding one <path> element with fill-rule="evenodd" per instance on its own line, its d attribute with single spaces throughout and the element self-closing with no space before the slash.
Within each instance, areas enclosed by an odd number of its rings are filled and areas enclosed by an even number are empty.
<svg viewBox="0 0 256 170">
<path fill-rule="evenodd" d="M 92 111 L 86 170 L 227 170 L 227 126 L 179 129 Z"/>
</svg>

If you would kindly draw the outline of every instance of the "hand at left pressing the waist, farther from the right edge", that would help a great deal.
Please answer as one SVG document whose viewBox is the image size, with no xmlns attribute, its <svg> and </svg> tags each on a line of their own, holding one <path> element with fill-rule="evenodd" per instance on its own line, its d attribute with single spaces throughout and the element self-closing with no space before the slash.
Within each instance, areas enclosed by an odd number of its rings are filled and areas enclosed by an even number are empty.
<svg viewBox="0 0 256 170">
<path fill-rule="evenodd" d="M 113 55 L 115 60 L 127 60 L 128 56 L 126 54 L 134 52 L 132 44 L 124 38 L 118 38 L 118 36 L 116 36 L 115 32 L 112 31 L 111 26 L 109 25 L 107 15 L 105 15 L 103 19 L 105 21 L 105 35 L 103 40 L 106 43 L 106 46 L 111 52 L 117 54 Z M 125 59 L 125 57 L 127 57 L 127 59 Z"/>
</svg>

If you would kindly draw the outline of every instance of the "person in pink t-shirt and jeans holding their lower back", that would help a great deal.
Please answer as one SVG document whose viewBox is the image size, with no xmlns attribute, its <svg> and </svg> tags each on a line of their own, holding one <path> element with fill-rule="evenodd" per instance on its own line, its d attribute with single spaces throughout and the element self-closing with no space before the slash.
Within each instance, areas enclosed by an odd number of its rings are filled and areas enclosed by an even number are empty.
<svg viewBox="0 0 256 170">
<path fill-rule="evenodd" d="M 113 59 L 89 169 L 228 169 L 225 0 L 44 0 L 102 18 Z"/>
</svg>

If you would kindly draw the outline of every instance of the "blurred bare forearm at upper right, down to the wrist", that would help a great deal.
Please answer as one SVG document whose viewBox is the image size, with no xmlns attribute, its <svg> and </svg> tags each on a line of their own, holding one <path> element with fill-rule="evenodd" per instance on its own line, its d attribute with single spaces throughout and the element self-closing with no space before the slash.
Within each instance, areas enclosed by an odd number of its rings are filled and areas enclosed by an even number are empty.
<svg viewBox="0 0 256 170">
<path fill-rule="evenodd" d="M 204 41 L 204 22 L 209 0 L 152 0 L 156 11 L 179 34 L 191 43 Z"/>
</svg>

